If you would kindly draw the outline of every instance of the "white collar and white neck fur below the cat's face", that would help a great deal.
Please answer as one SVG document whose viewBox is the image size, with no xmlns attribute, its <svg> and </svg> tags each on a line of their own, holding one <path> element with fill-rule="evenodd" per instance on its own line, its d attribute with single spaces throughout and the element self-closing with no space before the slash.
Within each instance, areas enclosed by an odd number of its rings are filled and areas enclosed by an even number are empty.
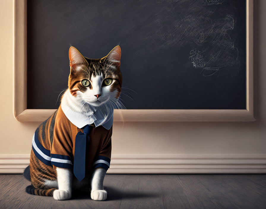
<svg viewBox="0 0 266 209">
<path fill-rule="evenodd" d="M 64 93 L 61 101 L 61 108 L 69 119 L 69 121 L 77 126 L 79 129 L 87 124 L 95 124 L 97 126 L 103 126 L 109 130 L 113 125 L 113 113 L 114 109 L 110 105 L 102 105 L 100 107 L 92 107 L 88 112 L 75 110 L 75 101 L 70 94 L 69 89 Z M 109 112 L 109 113 L 108 113 Z M 107 117 L 105 116 L 108 113 Z"/>
</svg>

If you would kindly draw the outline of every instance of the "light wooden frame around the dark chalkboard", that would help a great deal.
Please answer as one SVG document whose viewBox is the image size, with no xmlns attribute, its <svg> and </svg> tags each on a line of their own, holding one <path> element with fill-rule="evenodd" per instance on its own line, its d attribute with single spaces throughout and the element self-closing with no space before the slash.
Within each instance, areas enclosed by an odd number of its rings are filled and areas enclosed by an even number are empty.
<svg viewBox="0 0 266 209">
<path fill-rule="evenodd" d="M 114 121 L 255 121 L 253 0 L 247 0 L 246 8 L 246 110 L 115 110 Z M 18 121 L 45 121 L 55 111 L 54 109 L 27 109 L 26 0 L 13 0 L 13 21 L 14 116 Z"/>
</svg>

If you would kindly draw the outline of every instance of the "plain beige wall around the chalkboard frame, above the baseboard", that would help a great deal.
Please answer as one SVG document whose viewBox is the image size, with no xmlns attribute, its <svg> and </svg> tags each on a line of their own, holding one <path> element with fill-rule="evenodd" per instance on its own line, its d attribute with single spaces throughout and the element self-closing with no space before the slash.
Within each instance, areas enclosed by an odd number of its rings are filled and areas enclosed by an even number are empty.
<svg viewBox="0 0 266 209">
<path fill-rule="evenodd" d="M 12 0 L 1 0 L 0 8 L 0 154 L 29 154 L 32 135 L 39 123 L 18 122 L 13 116 Z M 114 123 L 113 154 L 266 154 L 265 9 L 266 1 L 255 2 L 254 83 L 257 121 L 125 122 L 124 126 Z"/>
</svg>

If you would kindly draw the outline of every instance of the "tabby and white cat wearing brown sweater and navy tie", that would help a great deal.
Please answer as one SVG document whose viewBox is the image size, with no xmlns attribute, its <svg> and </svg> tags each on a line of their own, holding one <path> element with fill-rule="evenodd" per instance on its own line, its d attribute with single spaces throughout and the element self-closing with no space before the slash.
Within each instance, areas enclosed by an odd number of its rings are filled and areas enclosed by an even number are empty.
<svg viewBox="0 0 266 209">
<path fill-rule="evenodd" d="M 27 193 L 67 200 L 73 189 L 85 188 L 93 200 L 107 198 L 103 180 L 110 166 L 113 109 L 122 88 L 120 58 L 120 46 L 99 59 L 69 48 L 68 89 L 58 110 L 34 133 L 24 172 L 30 174 Z"/>
</svg>

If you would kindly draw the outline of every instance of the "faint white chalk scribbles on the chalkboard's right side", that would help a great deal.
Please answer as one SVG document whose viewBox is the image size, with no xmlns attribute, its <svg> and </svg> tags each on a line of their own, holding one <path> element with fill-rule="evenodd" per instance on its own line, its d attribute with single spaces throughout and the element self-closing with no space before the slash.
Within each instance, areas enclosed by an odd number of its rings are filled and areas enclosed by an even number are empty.
<svg viewBox="0 0 266 209">
<path fill-rule="evenodd" d="M 227 69 L 231 75 L 238 74 L 238 48 L 228 32 L 234 30 L 236 22 L 227 9 L 221 9 L 223 2 L 205 0 L 200 5 L 197 1 L 188 7 L 183 13 L 186 16 L 181 20 L 191 22 L 191 33 L 186 34 L 187 37 L 192 37 L 194 42 L 191 43 L 191 46 L 194 46 L 190 51 L 189 60 L 194 67 L 202 69 L 203 76 L 213 75 L 223 69 Z M 219 15 L 213 15 L 218 7 Z"/>
</svg>

